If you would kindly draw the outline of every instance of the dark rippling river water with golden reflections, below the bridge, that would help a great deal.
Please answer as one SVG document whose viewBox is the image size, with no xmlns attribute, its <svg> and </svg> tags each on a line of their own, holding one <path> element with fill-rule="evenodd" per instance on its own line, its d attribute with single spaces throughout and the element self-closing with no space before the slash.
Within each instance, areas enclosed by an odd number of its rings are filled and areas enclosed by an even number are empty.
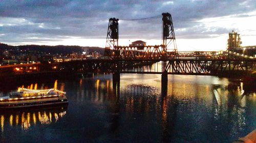
<svg viewBox="0 0 256 143">
<path fill-rule="evenodd" d="M 214 76 L 121 74 L 0 88 L 58 88 L 68 108 L 0 112 L 0 142 L 231 142 L 256 128 L 256 93 Z M 163 91 L 163 90 L 162 90 Z"/>
</svg>

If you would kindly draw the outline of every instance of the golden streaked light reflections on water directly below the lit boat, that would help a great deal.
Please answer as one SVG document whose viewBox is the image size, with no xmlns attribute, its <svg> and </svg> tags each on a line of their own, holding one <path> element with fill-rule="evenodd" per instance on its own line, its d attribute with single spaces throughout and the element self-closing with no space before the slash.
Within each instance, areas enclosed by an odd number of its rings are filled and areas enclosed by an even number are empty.
<svg viewBox="0 0 256 143">
<path fill-rule="evenodd" d="M 9 127 L 19 126 L 23 130 L 28 130 L 31 126 L 36 126 L 38 124 L 54 123 L 64 117 L 66 113 L 67 107 L 1 112 L 1 132 L 4 132 L 4 128 L 7 125 L 9 125 Z"/>
</svg>

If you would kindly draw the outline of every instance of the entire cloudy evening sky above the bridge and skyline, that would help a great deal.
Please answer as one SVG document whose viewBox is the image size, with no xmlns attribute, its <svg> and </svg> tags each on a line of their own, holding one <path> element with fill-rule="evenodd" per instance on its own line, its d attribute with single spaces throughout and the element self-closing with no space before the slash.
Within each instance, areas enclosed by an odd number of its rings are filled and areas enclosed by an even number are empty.
<svg viewBox="0 0 256 143">
<path fill-rule="evenodd" d="M 172 14 L 178 50 L 225 49 L 237 31 L 256 45 L 255 1 L 0 0 L 0 42 L 105 47 L 109 18 L 119 18 L 121 45 L 161 44 L 161 13 Z M 144 20 L 129 20 L 152 17 Z"/>
</svg>

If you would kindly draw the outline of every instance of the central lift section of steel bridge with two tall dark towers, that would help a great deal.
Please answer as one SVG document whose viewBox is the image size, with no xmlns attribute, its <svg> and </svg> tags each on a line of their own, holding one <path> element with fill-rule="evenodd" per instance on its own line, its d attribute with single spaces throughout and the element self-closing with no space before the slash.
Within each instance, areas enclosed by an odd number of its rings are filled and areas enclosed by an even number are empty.
<svg viewBox="0 0 256 143">
<path fill-rule="evenodd" d="M 139 68 L 128 69 L 127 66 L 155 64 L 161 61 L 161 73 L 166 77 L 167 82 L 167 61 L 170 59 L 179 59 L 176 46 L 175 33 L 172 15 L 162 13 L 162 44 L 147 45 L 147 46 L 119 46 L 119 25 L 116 18 L 110 18 L 108 33 L 106 36 L 106 47 L 104 52 L 105 59 L 116 61 L 113 79 L 115 73 L 117 79 L 120 78 L 119 73 L 158 73 L 157 69 L 142 71 L 142 66 Z M 144 63 L 144 64 L 143 64 Z M 157 66 L 158 67 L 158 66 Z M 145 67 L 143 67 L 145 68 Z M 135 70 L 136 69 L 136 70 Z M 150 68 L 151 69 L 151 68 Z M 151 69 L 152 70 L 152 69 Z"/>
</svg>

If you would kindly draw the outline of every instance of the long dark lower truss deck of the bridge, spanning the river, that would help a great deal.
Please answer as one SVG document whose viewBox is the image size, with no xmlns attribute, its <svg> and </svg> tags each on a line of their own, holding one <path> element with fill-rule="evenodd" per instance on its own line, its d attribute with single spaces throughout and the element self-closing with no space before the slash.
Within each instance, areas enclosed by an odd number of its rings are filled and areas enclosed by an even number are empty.
<svg viewBox="0 0 256 143">
<path fill-rule="evenodd" d="M 166 64 L 166 69 L 162 65 Z M 32 70 L 30 67 L 32 67 Z M 82 60 L 53 64 L 1 66 L 1 76 L 41 74 L 41 73 L 147 73 L 147 74 L 188 74 L 223 75 L 249 73 L 255 71 L 253 59 L 151 59 L 151 60 Z M 19 69 L 19 70 L 17 70 Z M 36 69 L 36 70 L 33 70 Z"/>
</svg>

